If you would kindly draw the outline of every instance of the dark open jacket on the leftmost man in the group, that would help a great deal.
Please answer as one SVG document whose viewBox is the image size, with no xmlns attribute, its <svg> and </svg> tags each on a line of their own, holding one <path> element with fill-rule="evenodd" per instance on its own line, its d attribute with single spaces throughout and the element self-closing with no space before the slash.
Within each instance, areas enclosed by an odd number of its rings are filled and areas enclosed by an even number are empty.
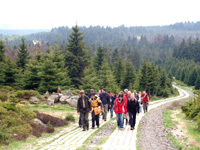
<svg viewBox="0 0 200 150">
<path fill-rule="evenodd" d="M 85 108 L 83 108 L 83 101 L 82 101 L 82 97 L 80 97 L 78 99 L 78 103 L 77 103 L 77 112 L 80 113 L 86 113 L 91 111 L 91 104 L 89 102 L 89 98 L 87 96 L 84 97 L 84 101 L 85 101 Z"/>
</svg>

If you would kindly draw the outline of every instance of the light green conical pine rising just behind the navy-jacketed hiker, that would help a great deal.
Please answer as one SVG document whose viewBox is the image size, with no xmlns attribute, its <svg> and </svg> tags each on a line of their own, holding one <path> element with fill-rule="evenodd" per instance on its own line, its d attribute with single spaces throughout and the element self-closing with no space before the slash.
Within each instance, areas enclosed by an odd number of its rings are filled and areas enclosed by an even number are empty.
<svg viewBox="0 0 200 150">
<path fill-rule="evenodd" d="M 108 62 L 104 62 L 99 71 L 99 87 L 106 88 L 108 92 L 119 92 L 119 87 Z"/>
</svg>

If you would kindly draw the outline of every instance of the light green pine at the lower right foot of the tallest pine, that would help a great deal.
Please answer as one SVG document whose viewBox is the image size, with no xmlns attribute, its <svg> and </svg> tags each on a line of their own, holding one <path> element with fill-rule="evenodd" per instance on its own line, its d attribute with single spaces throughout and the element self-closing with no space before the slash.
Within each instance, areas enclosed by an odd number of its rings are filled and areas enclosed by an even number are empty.
<svg viewBox="0 0 200 150">
<path fill-rule="evenodd" d="M 84 70 L 84 77 L 82 78 L 81 89 L 89 93 L 91 89 L 99 90 L 99 79 L 96 70 L 91 65 Z"/>
</svg>

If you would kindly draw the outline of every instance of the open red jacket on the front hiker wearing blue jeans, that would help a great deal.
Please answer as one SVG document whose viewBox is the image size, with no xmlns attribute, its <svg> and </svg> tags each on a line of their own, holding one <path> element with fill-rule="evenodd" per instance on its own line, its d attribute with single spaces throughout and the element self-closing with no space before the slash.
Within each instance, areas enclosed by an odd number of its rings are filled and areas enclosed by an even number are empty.
<svg viewBox="0 0 200 150">
<path fill-rule="evenodd" d="M 127 114 L 127 101 L 124 98 L 121 102 L 116 98 L 115 100 L 115 113 L 125 113 Z"/>
</svg>

